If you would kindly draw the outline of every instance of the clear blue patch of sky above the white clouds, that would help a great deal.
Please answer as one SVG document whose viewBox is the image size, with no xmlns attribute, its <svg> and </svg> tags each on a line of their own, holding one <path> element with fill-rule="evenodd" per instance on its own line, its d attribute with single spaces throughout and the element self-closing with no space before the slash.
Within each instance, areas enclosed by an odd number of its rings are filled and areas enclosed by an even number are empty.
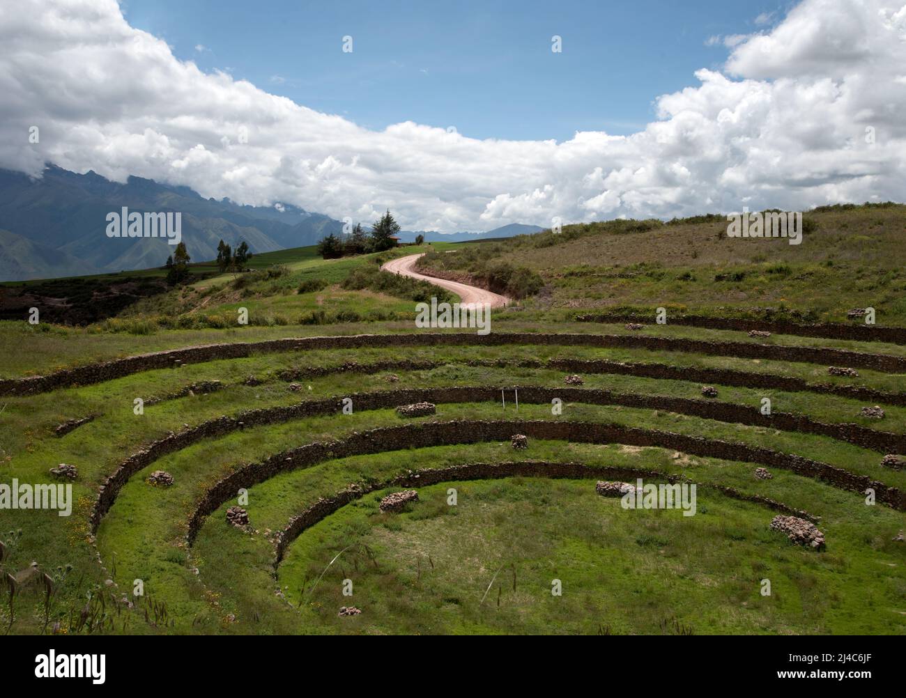
<svg viewBox="0 0 906 698">
<path fill-rule="evenodd" d="M 708 37 L 753 33 L 779 2 L 300 2 L 127 0 L 132 26 L 204 71 L 369 129 L 413 120 L 477 139 L 629 134 L 660 94 L 718 69 Z M 342 53 L 342 36 L 353 37 Z M 563 53 L 551 52 L 551 36 Z M 204 47 L 198 50 L 196 47 Z"/>
</svg>

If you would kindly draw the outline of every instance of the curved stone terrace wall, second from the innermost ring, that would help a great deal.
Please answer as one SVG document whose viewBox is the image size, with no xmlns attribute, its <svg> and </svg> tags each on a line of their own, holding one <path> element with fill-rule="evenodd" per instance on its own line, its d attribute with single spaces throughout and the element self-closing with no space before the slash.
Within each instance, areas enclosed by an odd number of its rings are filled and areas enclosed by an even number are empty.
<svg viewBox="0 0 906 698">
<path fill-rule="evenodd" d="M 191 544 L 205 518 L 217 511 L 222 504 L 236 497 L 240 488 L 250 488 L 279 473 L 352 455 L 379 454 L 439 445 L 506 442 L 513 434 L 580 444 L 656 446 L 702 457 L 757 463 L 821 480 L 843 490 L 864 492 L 866 488 L 871 487 L 875 491 L 877 502 L 886 503 L 900 511 L 906 510 L 906 495 L 895 487 L 873 481 L 867 475 L 849 473 L 843 468 L 760 446 L 593 422 L 454 420 L 380 427 L 354 433 L 342 441 L 316 442 L 299 446 L 272 455 L 264 461 L 247 464 L 207 490 L 198 502 L 195 512 L 189 517 L 187 540 Z"/>
</svg>

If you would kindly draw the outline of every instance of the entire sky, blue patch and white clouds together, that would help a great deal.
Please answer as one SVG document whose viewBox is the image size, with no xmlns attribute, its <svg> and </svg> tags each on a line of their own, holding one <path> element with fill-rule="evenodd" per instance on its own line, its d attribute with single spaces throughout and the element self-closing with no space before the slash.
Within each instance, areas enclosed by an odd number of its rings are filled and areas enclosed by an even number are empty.
<svg viewBox="0 0 906 698">
<path fill-rule="evenodd" d="M 33 177 L 442 232 L 906 191 L 903 0 L 18 0 L 0 45 L 0 167 Z"/>
</svg>

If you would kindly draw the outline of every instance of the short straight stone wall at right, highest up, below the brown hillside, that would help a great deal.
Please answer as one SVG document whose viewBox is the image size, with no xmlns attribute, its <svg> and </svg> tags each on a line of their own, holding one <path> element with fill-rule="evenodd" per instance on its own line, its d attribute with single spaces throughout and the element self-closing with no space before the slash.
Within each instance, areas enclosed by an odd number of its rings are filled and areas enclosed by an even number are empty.
<svg viewBox="0 0 906 698">
<path fill-rule="evenodd" d="M 654 313 L 589 313 L 576 316 L 577 322 L 644 322 L 654 324 Z M 878 327 L 864 322 L 844 324 L 843 322 L 815 322 L 805 324 L 789 320 L 743 320 L 741 318 L 713 318 L 708 315 L 670 315 L 670 325 L 707 328 L 708 330 L 737 330 L 747 332 L 759 330 L 774 334 L 792 334 L 800 337 L 822 339 L 855 339 L 857 341 L 885 341 L 892 344 L 906 344 L 906 328 Z"/>
</svg>

